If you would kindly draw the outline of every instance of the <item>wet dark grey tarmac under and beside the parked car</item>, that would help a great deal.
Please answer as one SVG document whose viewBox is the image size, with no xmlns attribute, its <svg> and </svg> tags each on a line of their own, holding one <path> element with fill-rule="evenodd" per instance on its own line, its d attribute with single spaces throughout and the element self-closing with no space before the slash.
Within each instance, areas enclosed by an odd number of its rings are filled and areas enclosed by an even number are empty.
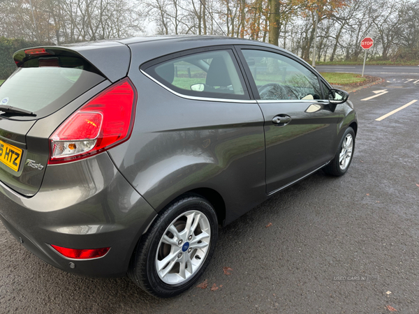
<svg viewBox="0 0 419 314">
<path fill-rule="evenodd" d="M 382 68 L 365 74 L 386 82 L 350 96 L 347 174 L 316 172 L 220 230 L 207 289 L 156 299 L 128 278 L 66 274 L 0 224 L 0 313 L 418 313 L 419 101 L 376 119 L 419 100 L 419 67 Z"/>
</svg>

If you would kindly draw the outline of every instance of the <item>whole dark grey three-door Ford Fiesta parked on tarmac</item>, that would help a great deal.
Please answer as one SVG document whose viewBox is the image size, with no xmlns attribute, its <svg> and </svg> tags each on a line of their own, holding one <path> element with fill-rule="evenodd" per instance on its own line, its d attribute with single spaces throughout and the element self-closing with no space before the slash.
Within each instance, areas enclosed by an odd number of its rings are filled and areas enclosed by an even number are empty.
<svg viewBox="0 0 419 314">
<path fill-rule="evenodd" d="M 226 225 L 351 164 L 344 91 L 278 47 L 155 37 L 14 55 L 0 87 L 0 218 L 64 271 L 172 297 Z"/>
</svg>

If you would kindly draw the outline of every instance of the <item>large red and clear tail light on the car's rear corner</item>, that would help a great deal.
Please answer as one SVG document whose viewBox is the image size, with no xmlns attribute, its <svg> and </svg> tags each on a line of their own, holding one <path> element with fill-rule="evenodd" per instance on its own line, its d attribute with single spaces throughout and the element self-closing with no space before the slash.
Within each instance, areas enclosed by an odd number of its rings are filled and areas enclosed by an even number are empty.
<svg viewBox="0 0 419 314">
<path fill-rule="evenodd" d="M 89 100 L 50 137 L 49 164 L 101 153 L 131 136 L 137 91 L 125 78 Z"/>
</svg>

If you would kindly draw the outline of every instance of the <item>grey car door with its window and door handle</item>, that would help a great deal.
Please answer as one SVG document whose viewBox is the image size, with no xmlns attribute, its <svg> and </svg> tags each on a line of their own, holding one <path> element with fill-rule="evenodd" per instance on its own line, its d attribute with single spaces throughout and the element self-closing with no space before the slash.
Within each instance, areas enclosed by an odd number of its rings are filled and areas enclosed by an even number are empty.
<svg viewBox="0 0 419 314">
<path fill-rule="evenodd" d="M 304 62 L 264 47 L 240 50 L 265 119 L 266 191 L 274 193 L 332 159 L 339 115 Z"/>
</svg>

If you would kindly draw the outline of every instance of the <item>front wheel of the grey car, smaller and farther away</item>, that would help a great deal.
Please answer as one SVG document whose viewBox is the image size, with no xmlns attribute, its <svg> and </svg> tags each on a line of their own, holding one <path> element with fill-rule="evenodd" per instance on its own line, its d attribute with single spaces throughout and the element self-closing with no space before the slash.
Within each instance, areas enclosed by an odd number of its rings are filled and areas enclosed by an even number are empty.
<svg viewBox="0 0 419 314">
<path fill-rule="evenodd" d="M 351 165 L 354 149 L 355 132 L 353 128 L 349 127 L 339 143 L 335 158 L 327 166 L 323 167 L 323 171 L 333 176 L 343 176 Z"/>
</svg>

